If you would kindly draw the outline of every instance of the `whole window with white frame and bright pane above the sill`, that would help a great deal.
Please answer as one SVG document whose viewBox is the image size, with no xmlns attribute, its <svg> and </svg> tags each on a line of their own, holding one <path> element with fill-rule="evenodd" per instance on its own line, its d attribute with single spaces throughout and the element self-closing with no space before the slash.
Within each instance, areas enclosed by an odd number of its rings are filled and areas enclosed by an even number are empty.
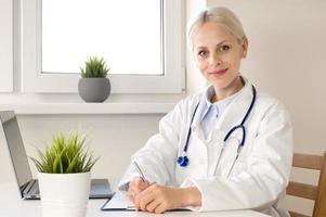
<svg viewBox="0 0 326 217">
<path fill-rule="evenodd" d="M 173 0 L 21 1 L 25 92 L 77 92 L 87 56 L 104 56 L 114 93 L 184 91 L 184 7 Z"/>
</svg>

